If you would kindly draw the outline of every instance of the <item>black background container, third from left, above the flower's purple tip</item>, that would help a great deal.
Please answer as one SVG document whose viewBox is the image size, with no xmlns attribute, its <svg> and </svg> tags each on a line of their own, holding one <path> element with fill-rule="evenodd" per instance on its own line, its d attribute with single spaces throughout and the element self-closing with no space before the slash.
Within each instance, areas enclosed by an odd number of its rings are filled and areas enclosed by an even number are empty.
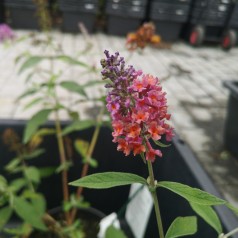
<svg viewBox="0 0 238 238">
<path fill-rule="evenodd" d="M 108 0 L 107 33 L 125 36 L 140 27 L 146 17 L 147 0 Z"/>
</svg>

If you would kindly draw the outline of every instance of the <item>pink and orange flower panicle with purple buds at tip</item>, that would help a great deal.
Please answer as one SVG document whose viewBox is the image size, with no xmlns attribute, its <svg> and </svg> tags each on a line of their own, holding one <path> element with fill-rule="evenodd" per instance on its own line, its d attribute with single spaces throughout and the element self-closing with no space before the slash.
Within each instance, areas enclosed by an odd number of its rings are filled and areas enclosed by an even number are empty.
<svg viewBox="0 0 238 238">
<path fill-rule="evenodd" d="M 133 66 L 125 66 L 125 60 L 116 52 L 104 52 L 101 60 L 103 79 L 110 79 L 107 109 L 111 114 L 113 142 L 125 155 L 144 154 L 146 160 L 154 161 L 156 155 L 162 157 L 159 149 L 153 149 L 151 141 L 167 141 L 173 137 L 173 128 L 167 123 L 166 93 L 159 79 Z"/>
</svg>

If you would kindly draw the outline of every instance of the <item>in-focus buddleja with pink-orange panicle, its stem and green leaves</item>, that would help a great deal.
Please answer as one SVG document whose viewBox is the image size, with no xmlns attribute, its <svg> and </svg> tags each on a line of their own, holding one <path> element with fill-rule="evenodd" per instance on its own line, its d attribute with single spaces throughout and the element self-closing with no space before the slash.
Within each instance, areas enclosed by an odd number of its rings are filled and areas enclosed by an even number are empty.
<svg viewBox="0 0 238 238">
<path fill-rule="evenodd" d="M 162 157 L 162 152 L 154 148 L 154 145 L 164 147 L 166 145 L 161 143 L 162 136 L 170 141 L 174 135 L 173 128 L 168 122 L 170 114 L 167 112 L 166 93 L 162 90 L 159 79 L 143 74 L 133 66 L 126 67 L 124 58 L 120 57 L 119 53 L 110 55 L 105 51 L 105 55 L 106 59 L 101 61 L 102 76 L 103 80 L 110 80 L 110 83 L 106 84 L 106 88 L 109 89 L 107 109 L 112 119 L 113 142 L 118 143 L 117 149 L 123 151 L 125 155 L 131 152 L 134 156 L 141 155 L 145 166 L 148 167 L 148 178 L 130 173 L 106 172 L 89 175 L 70 184 L 105 189 L 140 183 L 148 188 L 153 198 L 160 238 L 195 234 L 197 231 L 195 216 L 176 218 L 165 233 L 157 190 L 167 189 L 186 199 L 192 209 L 221 234 L 222 226 L 213 206 L 225 205 L 237 213 L 236 208 L 225 200 L 197 188 L 177 182 L 156 181 L 154 178 L 153 163 L 156 157 Z M 220 237 L 228 237 L 231 234 L 221 234 Z"/>
</svg>

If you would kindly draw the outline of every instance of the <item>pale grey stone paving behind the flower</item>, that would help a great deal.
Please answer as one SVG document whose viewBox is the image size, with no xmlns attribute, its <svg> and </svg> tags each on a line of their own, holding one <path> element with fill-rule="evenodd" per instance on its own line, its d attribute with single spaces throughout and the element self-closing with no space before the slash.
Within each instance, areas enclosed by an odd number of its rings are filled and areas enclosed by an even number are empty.
<svg viewBox="0 0 238 238">
<path fill-rule="evenodd" d="M 17 31 L 18 37 L 28 34 Z M 41 36 L 38 33 L 39 36 Z M 53 36 L 62 44 L 66 54 L 77 56 L 85 46 L 82 35 L 54 32 Z M 129 64 L 145 73 L 158 76 L 167 91 L 172 123 L 178 135 L 189 145 L 200 163 L 207 170 L 213 181 L 219 185 L 220 191 L 234 204 L 238 204 L 238 163 L 233 158 L 222 156 L 223 130 L 226 116 L 228 91 L 222 83 L 226 80 L 238 79 L 238 48 L 224 52 L 219 46 L 202 46 L 193 48 L 178 42 L 170 49 L 146 48 L 143 53 L 129 53 L 125 47 L 125 39 L 104 34 L 95 34 L 90 38 L 92 49 L 80 56 L 80 60 L 88 62 L 100 69 L 100 59 L 104 49 L 119 51 Z M 49 54 L 48 49 L 31 45 L 31 39 L 14 43 L 5 47 L 0 44 L 0 118 L 28 119 L 37 108 L 23 110 L 27 100 L 16 102 L 15 99 L 26 88 L 26 74 L 18 75 L 19 65 L 14 59 L 25 51 L 37 54 Z M 46 65 L 47 66 L 47 65 Z M 63 63 L 56 65 L 64 70 L 65 80 L 87 82 L 100 79 L 100 74 L 87 75 L 76 67 L 65 67 Z M 40 79 L 39 79 L 40 80 Z M 89 90 L 89 95 L 103 95 L 105 89 L 98 86 Z M 86 110 L 95 105 L 84 103 L 81 107 L 72 105 L 75 95 L 64 90 L 59 91 L 62 102 L 75 110 Z M 87 113 L 84 114 L 85 117 Z M 67 119 L 67 115 L 61 115 Z"/>
</svg>

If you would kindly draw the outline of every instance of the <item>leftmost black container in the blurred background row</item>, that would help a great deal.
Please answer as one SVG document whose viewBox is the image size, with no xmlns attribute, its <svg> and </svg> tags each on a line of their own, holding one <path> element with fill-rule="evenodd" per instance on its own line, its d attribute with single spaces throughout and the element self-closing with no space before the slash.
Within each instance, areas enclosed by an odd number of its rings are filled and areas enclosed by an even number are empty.
<svg viewBox="0 0 238 238">
<path fill-rule="evenodd" d="M 14 29 L 38 30 L 36 6 L 32 0 L 5 0 L 9 24 Z"/>
</svg>

